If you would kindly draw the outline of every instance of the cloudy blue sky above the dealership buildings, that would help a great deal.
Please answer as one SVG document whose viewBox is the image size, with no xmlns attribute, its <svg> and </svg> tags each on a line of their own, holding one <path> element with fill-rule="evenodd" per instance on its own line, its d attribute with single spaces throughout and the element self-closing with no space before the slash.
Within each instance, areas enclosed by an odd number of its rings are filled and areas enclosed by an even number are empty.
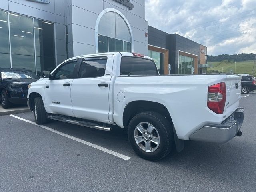
<svg viewBox="0 0 256 192">
<path fill-rule="evenodd" d="M 145 0 L 145 20 L 208 55 L 256 53 L 256 0 Z"/>
</svg>

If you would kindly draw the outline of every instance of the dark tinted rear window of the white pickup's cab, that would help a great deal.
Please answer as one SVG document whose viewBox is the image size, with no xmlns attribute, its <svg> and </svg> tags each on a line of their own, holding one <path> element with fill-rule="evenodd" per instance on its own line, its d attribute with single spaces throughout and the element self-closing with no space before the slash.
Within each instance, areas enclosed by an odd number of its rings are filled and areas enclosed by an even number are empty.
<svg viewBox="0 0 256 192">
<path fill-rule="evenodd" d="M 152 60 L 138 57 L 122 57 L 121 75 L 158 75 Z"/>
</svg>

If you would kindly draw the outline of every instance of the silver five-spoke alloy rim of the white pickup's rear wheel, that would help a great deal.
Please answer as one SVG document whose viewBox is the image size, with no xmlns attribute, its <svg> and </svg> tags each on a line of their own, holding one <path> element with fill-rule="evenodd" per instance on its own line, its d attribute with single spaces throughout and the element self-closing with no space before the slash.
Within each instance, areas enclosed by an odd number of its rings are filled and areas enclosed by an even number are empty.
<svg viewBox="0 0 256 192">
<path fill-rule="evenodd" d="M 136 126 L 134 139 L 140 149 L 145 152 L 154 152 L 160 144 L 157 129 L 148 122 L 141 122 Z"/>
</svg>

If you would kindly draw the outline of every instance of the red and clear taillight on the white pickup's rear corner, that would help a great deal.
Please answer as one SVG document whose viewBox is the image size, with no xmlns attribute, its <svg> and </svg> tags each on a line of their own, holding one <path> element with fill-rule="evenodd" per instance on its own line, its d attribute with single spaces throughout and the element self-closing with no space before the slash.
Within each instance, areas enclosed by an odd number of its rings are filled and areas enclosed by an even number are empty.
<svg viewBox="0 0 256 192">
<path fill-rule="evenodd" d="M 226 103 L 226 84 L 225 82 L 211 85 L 208 87 L 207 106 L 217 114 L 224 112 Z"/>
</svg>

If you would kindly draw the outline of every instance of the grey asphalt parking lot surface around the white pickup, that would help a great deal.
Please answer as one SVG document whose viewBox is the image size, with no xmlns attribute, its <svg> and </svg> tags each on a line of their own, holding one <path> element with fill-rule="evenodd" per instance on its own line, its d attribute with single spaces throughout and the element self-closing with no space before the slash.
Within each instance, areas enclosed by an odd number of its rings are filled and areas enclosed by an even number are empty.
<svg viewBox="0 0 256 192">
<path fill-rule="evenodd" d="M 32 112 L 0 116 L 0 191 L 255 191 L 256 92 L 242 95 L 242 137 L 187 141 L 158 162 L 138 157 L 124 130 L 64 122 L 37 126 Z"/>
</svg>

